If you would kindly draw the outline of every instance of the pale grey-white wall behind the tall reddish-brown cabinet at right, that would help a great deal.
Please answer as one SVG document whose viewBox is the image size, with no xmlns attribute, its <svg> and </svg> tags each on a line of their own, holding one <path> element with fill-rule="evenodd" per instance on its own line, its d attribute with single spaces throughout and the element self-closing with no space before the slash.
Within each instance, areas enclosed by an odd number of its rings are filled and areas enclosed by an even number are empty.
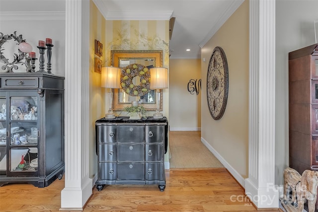
<svg viewBox="0 0 318 212">
<path fill-rule="evenodd" d="M 288 53 L 315 44 L 314 20 L 316 19 L 318 19 L 317 0 L 276 0 L 275 183 L 277 185 L 283 184 L 283 171 L 289 165 Z"/>
</svg>

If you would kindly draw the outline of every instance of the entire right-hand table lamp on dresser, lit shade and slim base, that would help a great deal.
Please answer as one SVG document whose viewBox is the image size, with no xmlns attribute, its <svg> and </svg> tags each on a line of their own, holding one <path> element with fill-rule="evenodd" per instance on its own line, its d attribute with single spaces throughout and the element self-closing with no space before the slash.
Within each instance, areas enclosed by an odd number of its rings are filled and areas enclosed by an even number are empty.
<svg viewBox="0 0 318 212">
<path fill-rule="evenodd" d="M 162 119 L 163 114 L 160 113 L 160 89 L 168 88 L 168 69 L 157 67 L 150 69 L 150 88 L 157 90 L 157 111 L 154 114 L 155 119 Z"/>
</svg>

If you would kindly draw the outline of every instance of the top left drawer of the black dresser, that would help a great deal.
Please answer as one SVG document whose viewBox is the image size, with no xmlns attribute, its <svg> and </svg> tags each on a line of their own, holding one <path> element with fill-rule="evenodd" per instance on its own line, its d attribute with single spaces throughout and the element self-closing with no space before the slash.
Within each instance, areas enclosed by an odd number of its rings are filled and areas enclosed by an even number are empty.
<svg viewBox="0 0 318 212">
<path fill-rule="evenodd" d="M 117 127 L 114 125 L 101 125 L 97 127 L 97 143 L 116 142 Z"/>
</svg>

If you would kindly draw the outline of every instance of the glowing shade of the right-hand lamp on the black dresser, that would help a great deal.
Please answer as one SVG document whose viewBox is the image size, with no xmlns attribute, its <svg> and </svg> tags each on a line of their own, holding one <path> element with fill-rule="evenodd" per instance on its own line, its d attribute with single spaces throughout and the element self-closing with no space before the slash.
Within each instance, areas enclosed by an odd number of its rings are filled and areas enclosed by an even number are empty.
<svg viewBox="0 0 318 212">
<path fill-rule="evenodd" d="M 150 69 L 150 88 L 162 89 L 168 88 L 168 69 L 157 67 Z"/>
</svg>

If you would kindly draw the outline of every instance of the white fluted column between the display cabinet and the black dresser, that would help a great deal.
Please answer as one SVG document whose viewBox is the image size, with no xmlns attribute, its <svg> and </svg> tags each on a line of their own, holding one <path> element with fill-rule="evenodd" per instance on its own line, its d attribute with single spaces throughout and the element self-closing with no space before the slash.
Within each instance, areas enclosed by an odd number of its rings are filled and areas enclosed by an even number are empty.
<svg viewBox="0 0 318 212">
<path fill-rule="evenodd" d="M 66 0 L 65 188 L 61 211 L 81 211 L 92 194 L 88 169 L 89 1 Z"/>
</svg>

